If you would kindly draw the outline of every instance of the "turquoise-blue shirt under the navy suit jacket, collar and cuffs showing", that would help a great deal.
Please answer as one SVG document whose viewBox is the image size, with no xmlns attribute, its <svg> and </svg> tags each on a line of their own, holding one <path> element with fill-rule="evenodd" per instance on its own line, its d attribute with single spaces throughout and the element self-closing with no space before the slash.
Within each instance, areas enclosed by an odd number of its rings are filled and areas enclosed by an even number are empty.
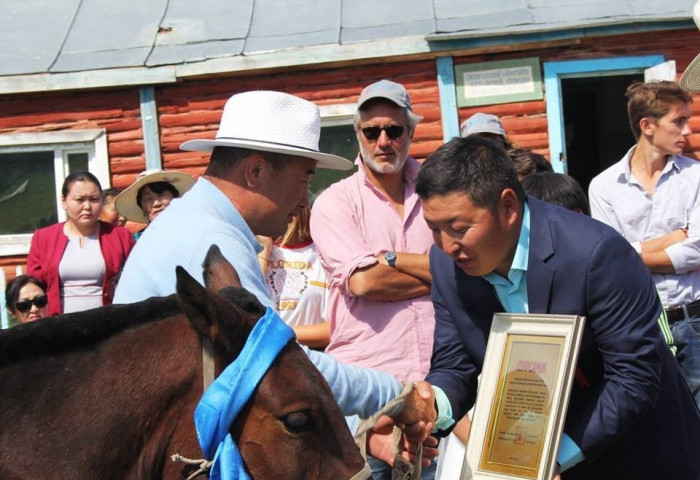
<svg viewBox="0 0 700 480">
<path fill-rule="evenodd" d="M 513 263 L 508 270 L 508 278 L 504 278 L 495 272 L 484 275 L 484 279 L 493 285 L 496 296 L 509 313 L 528 313 L 527 300 L 527 264 L 530 256 L 530 207 L 525 203 L 523 208 L 523 224 L 518 237 L 518 246 L 515 249 Z M 438 418 L 435 422 L 436 429 L 449 427 L 454 423 L 452 419 L 452 407 L 447 395 L 440 387 L 433 387 L 435 400 L 438 406 Z M 557 462 L 561 471 L 565 471 L 584 460 L 583 453 L 578 445 L 566 433 L 562 434 L 559 442 Z"/>
</svg>

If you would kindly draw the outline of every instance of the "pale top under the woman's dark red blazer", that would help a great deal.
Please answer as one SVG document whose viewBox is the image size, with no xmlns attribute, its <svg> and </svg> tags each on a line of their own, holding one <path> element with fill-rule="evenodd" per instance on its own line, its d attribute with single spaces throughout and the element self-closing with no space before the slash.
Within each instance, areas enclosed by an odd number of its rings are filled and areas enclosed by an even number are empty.
<svg viewBox="0 0 700 480">
<path fill-rule="evenodd" d="M 85 237 L 83 248 L 80 248 L 80 237 L 69 235 L 58 274 L 63 313 L 101 307 L 105 260 L 97 235 Z"/>
</svg>

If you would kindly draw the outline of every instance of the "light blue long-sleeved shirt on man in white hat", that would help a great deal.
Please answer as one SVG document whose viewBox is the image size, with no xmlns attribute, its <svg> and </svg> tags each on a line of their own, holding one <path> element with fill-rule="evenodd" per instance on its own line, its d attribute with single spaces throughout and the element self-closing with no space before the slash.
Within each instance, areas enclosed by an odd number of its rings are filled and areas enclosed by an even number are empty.
<svg viewBox="0 0 700 480">
<path fill-rule="evenodd" d="M 204 284 L 202 262 L 212 244 L 234 266 L 243 287 L 266 307 L 274 307 L 257 258 L 262 246 L 228 197 L 204 178 L 145 230 L 126 261 L 114 303 L 175 293 L 177 265 Z M 345 415 L 368 417 L 401 393 L 401 383 L 391 375 L 303 348 Z"/>
</svg>

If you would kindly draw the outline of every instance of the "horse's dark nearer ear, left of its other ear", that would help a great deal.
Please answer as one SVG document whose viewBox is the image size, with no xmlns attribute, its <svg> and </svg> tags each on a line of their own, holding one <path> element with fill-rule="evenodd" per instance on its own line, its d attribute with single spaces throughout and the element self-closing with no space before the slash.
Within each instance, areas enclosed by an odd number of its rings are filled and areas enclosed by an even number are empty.
<svg viewBox="0 0 700 480">
<path fill-rule="evenodd" d="M 211 294 L 181 266 L 175 267 L 177 298 L 182 312 L 203 338 L 212 338 L 211 327 L 216 319 L 216 309 Z"/>
</svg>

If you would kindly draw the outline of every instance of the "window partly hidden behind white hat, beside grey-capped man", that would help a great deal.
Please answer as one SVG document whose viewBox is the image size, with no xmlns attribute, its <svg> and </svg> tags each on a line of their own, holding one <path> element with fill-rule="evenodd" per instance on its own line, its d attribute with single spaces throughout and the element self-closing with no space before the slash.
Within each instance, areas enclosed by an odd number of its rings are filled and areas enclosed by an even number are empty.
<svg viewBox="0 0 700 480">
<path fill-rule="evenodd" d="M 320 151 L 347 158 L 351 162 L 355 161 L 359 151 L 355 128 L 352 125 L 356 109 L 357 105 L 354 103 L 321 107 Z M 349 177 L 356 171 L 357 167 L 353 167 L 351 170 L 317 169 L 309 186 L 309 201 L 313 202 L 329 185 Z"/>
</svg>

